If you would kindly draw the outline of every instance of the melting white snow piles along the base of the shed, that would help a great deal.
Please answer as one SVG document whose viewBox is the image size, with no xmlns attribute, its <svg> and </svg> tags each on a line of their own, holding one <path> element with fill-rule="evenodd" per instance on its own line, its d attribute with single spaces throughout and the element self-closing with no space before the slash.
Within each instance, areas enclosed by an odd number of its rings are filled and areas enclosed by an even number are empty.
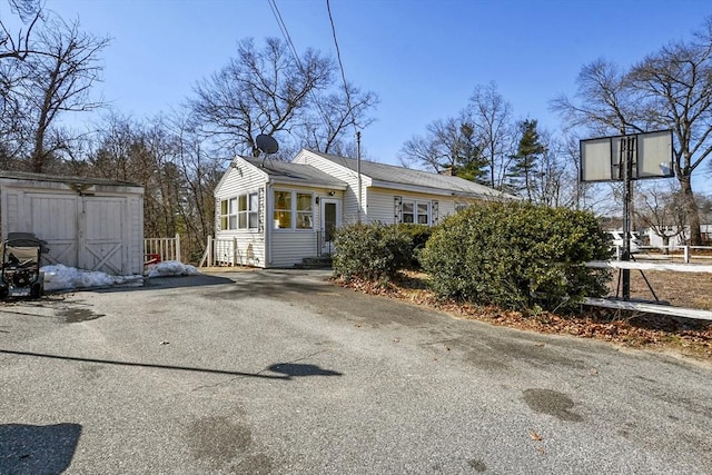
<svg viewBox="0 0 712 475">
<path fill-rule="evenodd" d="M 47 291 L 110 287 L 113 285 L 142 285 L 144 283 L 144 276 L 140 275 L 112 276 L 96 270 L 81 270 L 75 267 L 67 267 L 61 264 L 44 266 L 41 270 L 44 273 L 44 290 Z M 151 266 L 144 274 L 150 278 L 191 276 L 199 273 L 194 266 L 177 260 L 167 260 Z"/>
</svg>

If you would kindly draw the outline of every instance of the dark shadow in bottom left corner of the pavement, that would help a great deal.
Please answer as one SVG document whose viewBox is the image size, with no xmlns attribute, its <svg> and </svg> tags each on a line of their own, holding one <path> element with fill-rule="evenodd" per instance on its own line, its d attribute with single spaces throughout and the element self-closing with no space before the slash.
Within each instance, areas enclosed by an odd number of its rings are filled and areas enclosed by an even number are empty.
<svg viewBox="0 0 712 475">
<path fill-rule="evenodd" d="M 0 473 L 60 474 L 69 468 L 80 435 L 79 424 L 0 424 Z"/>
</svg>

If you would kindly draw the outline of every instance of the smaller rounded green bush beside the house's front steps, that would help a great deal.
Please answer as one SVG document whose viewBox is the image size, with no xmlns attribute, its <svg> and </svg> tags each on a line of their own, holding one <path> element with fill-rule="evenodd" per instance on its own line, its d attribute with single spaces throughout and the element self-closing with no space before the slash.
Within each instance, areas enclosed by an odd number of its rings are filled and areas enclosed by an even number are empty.
<svg viewBox="0 0 712 475">
<path fill-rule="evenodd" d="M 393 279 L 411 260 L 412 239 L 397 226 L 343 226 L 334 240 L 334 275 L 347 280 Z"/>
</svg>

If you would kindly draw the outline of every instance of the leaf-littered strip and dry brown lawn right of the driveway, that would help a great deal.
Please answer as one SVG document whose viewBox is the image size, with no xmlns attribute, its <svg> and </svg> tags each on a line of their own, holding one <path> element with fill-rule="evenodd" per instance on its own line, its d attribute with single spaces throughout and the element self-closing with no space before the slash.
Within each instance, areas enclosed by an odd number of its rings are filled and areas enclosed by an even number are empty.
<svg viewBox="0 0 712 475">
<path fill-rule="evenodd" d="M 645 276 L 661 300 L 679 307 L 712 310 L 712 274 L 651 271 Z M 336 284 L 445 310 L 458 318 L 545 334 L 595 338 L 635 348 L 674 352 L 712 362 L 712 321 L 591 307 L 582 307 L 576 315 L 531 314 L 438 300 L 427 288 L 427 276 L 411 271 L 403 273 L 397 281 L 387 286 L 339 280 Z M 615 294 L 616 278 L 611 287 L 612 294 Z M 631 273 L 631 297 L 652 299 L 639 271 Z"/>
</svg>

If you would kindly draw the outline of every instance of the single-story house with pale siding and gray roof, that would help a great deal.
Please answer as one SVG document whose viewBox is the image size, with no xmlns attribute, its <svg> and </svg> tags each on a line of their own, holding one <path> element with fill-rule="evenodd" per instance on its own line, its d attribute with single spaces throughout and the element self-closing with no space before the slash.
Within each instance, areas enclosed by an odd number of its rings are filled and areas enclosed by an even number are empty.
<svg viewBox="0 0 712 475">
<path fill-rule="evenodd" d="M 236 157 L 214 195 L 215 260 L 257 267 L 330 254 L 343 224 L 433 226 L 475 201 L 515 199 L 454 176 L 307 149 L 291 162 Z"/>
</svg>

